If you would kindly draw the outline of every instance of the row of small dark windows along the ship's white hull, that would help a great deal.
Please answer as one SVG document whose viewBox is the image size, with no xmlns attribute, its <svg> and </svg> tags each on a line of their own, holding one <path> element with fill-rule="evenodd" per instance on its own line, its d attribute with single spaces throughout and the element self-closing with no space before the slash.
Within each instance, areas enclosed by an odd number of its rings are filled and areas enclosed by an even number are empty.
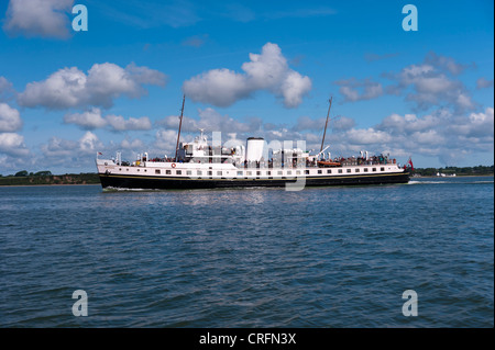
<svg viewBox="0 0 495 350">
<path fill-rule="evenodd" d="M 370 172 L 370 170 L 371 170 L 371 172 L 378 171 L 377 168 L 362 168 L 362 169 L 363 169 L 363 172 Z M 119 168 L 119 170 L 122 170 L 122 168 Z M 140 170 L 141 169 L 138 169 L 138 171 L 140 171 Z M 354 172 L 361 172 L 361 168 L 346 168 L 345 172 L 346 173 L 351 173 L 352 170 L 354 170 Z M 127 168 L 127 171 L 129 171 L 129 168 Z M 172 171 L 173 170 L 165 170 L 165 174 L 172 174 Z M 182 176 L 183 174 L 183 170 L 174 170 L 174 171 L 175 171 L 174 174 L 177 174 L 177 176 Z M 193 176 L 193 170 L 185 170 L 185 171 L 186 171 L 185 172 L 186 176 Z M 293 170 L 287 170 L 285 176 L 293 176 L 293 174 L 294 176 L 300 176 L 301 171 L 302 170 L 295 170 L 294 173 L 293 173 Z M 385 171 L 385 168 L 381 167 L 380 171 Z M 144 169 L 144 172 L 147 172 L 147 169 Z M 262 172 L 264 172 L 264 173 L 262 174 Z M 238 177 L 244 177 L 244 176 L 251 177 L 251 176 L 254 176 L 254 173 L 255 173 L 257 177 L 260 177 L 260 176 L 271 177 L 271 176 L 273 176 L 272 172 L 273 172 L 274 176 L 275 174 L 276 176 L 284 176 L 284 171 L 282 171 L 282 170 L 277 170 L 277 171 L 272 171 L 272 170 L 267 170 L 267 171 L 261 171 L 261 170 L 251 171 L 251 170 L 246 170 L 245 173 L 244 173 L 244 170 L 239 170 L 237 172 L 237 176 Z M 323 173 L 343 173 L 343 169 L 318 169 L 317 173 L 318 174 L 323 174 Z M 155 169 L 155 174 L 162 174 L 162 170 L 161 169 Z M 196 176 L 201 177 L 202 174 L 204 174 L 202 170 L 196 170 Z M 213 171 L 212 170 L 205 171 L 205 174 L 211 177 L 211 176 L 213 176 Z M 217 171 L 217 176 L 221 177 L 222 174 L 223 174 L 223 172 L 221 170 Z M 310 174 L 309 170 L 305 170 L 305 174 Z"/>
</svg>

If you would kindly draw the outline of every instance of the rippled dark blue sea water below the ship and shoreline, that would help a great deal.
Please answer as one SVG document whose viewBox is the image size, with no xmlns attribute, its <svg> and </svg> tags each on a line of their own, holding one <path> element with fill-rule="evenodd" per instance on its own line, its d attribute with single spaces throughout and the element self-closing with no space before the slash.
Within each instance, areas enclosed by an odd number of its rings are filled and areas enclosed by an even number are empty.
<svg viewBox="0 0 495 350">
<path fill-rule="evenodd" d="M 3 187 L 0 327 L 494 327 L 493 180 Z"/>
</svg>

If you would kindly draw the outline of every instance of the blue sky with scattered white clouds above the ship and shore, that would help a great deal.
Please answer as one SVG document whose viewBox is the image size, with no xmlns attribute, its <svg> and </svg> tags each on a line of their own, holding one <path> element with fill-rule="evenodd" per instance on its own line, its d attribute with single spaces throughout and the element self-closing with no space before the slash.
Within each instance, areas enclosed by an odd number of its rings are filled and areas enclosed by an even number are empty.
<svg viewBox="0 0 495 350">
<path fill-rule="evenodd" d="M 98 151 L 173 156 L 183 94 L 184 142 L 204 128 L 318 151 L 331 97 L 332 157 L 493 165 L 493 7 L 0 0 L 0 174 L 95 172 Z"/>
</svg>

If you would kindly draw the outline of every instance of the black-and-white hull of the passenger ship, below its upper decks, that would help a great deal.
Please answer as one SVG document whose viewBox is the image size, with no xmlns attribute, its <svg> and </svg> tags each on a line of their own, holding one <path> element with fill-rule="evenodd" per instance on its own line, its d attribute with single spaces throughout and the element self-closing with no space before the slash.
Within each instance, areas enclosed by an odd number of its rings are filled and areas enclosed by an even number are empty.
<svg viewBox="0 0 495 350">
<path fill-rule="evenodd" d="M 144 161 L 121 166 L 97 159 L 103 189 L 211 189 L 407 183 L 409 172 L 395 163 L 332 168 L 239 168 L 222 163 Z"/>
</svg>

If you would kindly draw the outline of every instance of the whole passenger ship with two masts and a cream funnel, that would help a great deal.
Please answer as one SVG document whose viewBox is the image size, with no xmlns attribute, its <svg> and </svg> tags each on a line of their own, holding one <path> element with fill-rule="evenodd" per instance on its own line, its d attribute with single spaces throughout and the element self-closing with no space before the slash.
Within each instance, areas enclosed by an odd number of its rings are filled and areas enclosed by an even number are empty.
<svg viewBox="0 0 495 350">
<path fill-rule="evenodd" d="M 331 100 L 330 100 L 331 105 Z M 184 112 L 184 100 L 183 100 Z M 301 148 L 272 149 L 261 137 L 250 137 L 246 145 L 212 146 L 201 134 L 193 143 L 179 143 L 183 112 L 174 158 L 139 155 L 132 162 L 112 159 L 96 163 L 103 189 L 212 189 L 285 187 L 301 190 L 320 185 L 365 185 L 407 183 L 409 171 L 388 156 L 331 158 L 330 153 L 311 156 Z M 329 109 L 330 112 L 330 109 Z M 328 123 L 328 115 L 327 115 Z M 327 125 L 326 125 L 327 128 Z M 324 140 L 324 133 L 323 133 Z M 215 144 L 215 143 L 213 143 Z M 322 142 L 323 145 L 323 142 Z"/>
</svg>

